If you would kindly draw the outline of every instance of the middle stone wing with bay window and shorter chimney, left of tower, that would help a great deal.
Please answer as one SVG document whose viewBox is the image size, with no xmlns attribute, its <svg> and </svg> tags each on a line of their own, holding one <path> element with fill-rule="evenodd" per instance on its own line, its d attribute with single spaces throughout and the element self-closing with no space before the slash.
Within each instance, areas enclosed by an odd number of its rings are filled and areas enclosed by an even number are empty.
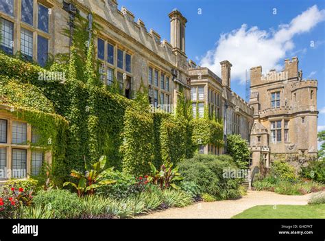
<svg viewBox="0 0 325 241">
<path fill-rule="evenodd" d="M 224 120 L 224 138 L 229 134 L 241 135 L 250 141 L 250 129 L 253 123 L 253 108 L 230 89 L 230 62 L 222 61 L 219 78 L 208 68 L 197 67 L 194 63 L 189 69 L 191 78 L 191 100 L 193 114 L 199 108 L 199 117 L 203 117 L 204 106 L 210 115 Z M 202 153 L 224 154 L 224 148 L 213 145 L 202 147 Z"/>
</svg>

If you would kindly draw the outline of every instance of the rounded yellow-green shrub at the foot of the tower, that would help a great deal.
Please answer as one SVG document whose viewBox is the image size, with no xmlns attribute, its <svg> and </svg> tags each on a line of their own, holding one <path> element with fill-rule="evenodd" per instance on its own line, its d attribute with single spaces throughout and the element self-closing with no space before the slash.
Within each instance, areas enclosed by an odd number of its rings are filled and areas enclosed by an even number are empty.
<svg viewBox="0 0 325 241">
<path fill-rule="evenodd" d="M 271 164 L 271 175 L 277 179 L 295 181 L 297 179 L 295 169 L 285 161 L 274 161 Z"/>
</svg>

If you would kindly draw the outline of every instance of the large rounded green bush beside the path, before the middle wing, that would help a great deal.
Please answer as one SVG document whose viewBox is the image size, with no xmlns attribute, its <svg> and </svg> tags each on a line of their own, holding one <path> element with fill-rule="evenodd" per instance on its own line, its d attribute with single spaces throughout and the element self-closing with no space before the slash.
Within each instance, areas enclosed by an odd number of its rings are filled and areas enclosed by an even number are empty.
<svg viewBox="0 0 325 241">
<path fill-rule="evenodd" d="M 227 155 L 196 154 L 180 163 L 179 172 L 184 181 L 192 181 L 202 193 L 217 199 L 238 198 L 241 179 L 224 177 L 224 170 L 228 168 L 235 169 L 237 165 Z"/>
</svg>

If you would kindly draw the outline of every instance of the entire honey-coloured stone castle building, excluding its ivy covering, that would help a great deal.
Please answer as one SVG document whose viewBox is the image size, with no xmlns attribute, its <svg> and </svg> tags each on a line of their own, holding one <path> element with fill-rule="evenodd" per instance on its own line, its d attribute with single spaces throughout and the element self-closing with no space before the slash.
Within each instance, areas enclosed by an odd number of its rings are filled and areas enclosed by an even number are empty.
<svg viewBox="0 0 325 241">
<path fill-rule="evenodd" d="M 248 104 L 230 88 L 229 61 L 220 62 L 220 78 L 187 59 L 187 19 L 177 9 L 168 15 L 169 42 L 147 31 L 141 19 L 134 21 L 127 8 L 119 10 L 117 0 L 0 0 L 0 49 L 44 66 L 50 55 L 69 54 L 71 36 L 62 30 L 73 33 L 77 14 L 88 20 L 89 36 L 95 36 L 101 80 L 110 85 L 117 78 L 125 97 L 133 98 L 143 82 L 152 105 L 174 106 L 184 91 L 195 115 L 203 117 L 208 108 L 210 115 L 224 120 L 225 140 L 239 134 L 248 141 L 252 166 L 261 159 L 269 166 L 277 155 L 317 153 L 317 81 L 302 80 L 298 58 L 285 60 L 284 71 L 267 76 L 261 67 L 252 68 Z M 93 25 L 99 26 L 95 32 Z M 50 154 L 21 144 L 33 141 L 32 126 L 4 113 L 0 111 L 0 168 L 37 172 Z M 222 154 L 225 149 L 208 144 L 200 152 Z"/>
</svg>

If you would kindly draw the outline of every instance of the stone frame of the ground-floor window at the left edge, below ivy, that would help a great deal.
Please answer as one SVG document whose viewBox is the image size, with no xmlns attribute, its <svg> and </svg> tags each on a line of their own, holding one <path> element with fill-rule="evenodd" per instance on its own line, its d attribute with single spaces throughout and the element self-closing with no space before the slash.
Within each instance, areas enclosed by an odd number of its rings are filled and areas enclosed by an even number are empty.
<svg viewBox="0 0 325 241">
<path fill-rule="evenodd" d="M 19 150 L 26 150 L 27 154 L 27 170 L 26 170 L 26 178 L 30 176 L 32 173 L 32 152 L 33 151 L 38 151 L 38 152 L 43 152 L 43 163 L 49 163 L 51 164 L 51 151 L 49 150 L 44 150 L 44 148 L 33 146 L 31 148 L 31 143 L 32 143 L 32 125 L 29 124 L 28 122 L 25 122 L 21 119 L 17 119 L 16 117 L 12 116 L 8 112 L 3 112 L 0 109 L 0 119 L 5 119 L 7 122 L 7 140 L 6 143 L 0 143 L 0 148 L 5 148 L 6 152 L 6 164 L 5 167 L 7 170 L 12 170 L 12 150 L 13 149 L 19 149 Z M 24 144 L 12 144 L 12 123 L 13 122 L 23 122 L 27 124 L 27 143 Z M 33 149 L 33 150 L 32 150 Z M 7 178 L 3 179 L 0 176 L 0 183 L 1 181 L 7 180 Z"/>
</svg>

